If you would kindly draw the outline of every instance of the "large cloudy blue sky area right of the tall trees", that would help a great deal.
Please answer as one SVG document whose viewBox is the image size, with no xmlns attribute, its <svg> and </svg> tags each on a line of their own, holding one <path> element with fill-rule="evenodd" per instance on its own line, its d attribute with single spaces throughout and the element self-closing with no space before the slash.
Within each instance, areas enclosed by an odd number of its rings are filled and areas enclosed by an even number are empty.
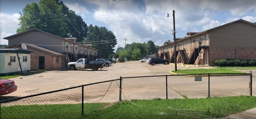
<svg viewBox="0 0 256 119">
<path fill-rule="evenodd" d="M 172 15 L 167 18 L 166 14 L 172 14 L 173 10 L 176 11 L 177 36 L 184 37 L 188 31 L 204 31 L 226 24 L 231 20 L 228 18 L 232 18 L 232 15 L 243 15 L 248 11 L 255 11 L 256 8 L 256 4 L 253 4 L 254 0 L 249 0 L 249 3 L 240 2 L 240 0 L 85 1 L 98 6 L 94 9 L 95 20 L 108 25 L 107 28 L 115 34 L 118 45 L 121 47 L 124 47 L 124 38 L 128 38 L 126 44 L 152 40 L 159 46 L 166 40 L 172 40 L 173 35 L 170 33 L 173 29 L 173 18 Z M 245 10 L 237 13 L 240 9 Z M 228 16 L 219 16 L 223 12 Z M 248 16 L 246 19 L 253 20 L 254 17 Z"/>
</svg>

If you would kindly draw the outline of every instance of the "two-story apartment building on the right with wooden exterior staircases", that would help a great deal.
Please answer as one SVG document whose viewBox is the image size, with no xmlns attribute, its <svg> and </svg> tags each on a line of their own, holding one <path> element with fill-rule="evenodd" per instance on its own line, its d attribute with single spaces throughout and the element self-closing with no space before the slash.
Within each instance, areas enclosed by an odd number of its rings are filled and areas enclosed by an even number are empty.
<svg viewBox="0 0 256 119">
<path fill-rule="evenodd" d="M 256 24 L 236 20 L 176 38 L 176 60 L 182 64 L 213 66 L 216 59 L 256 60 Z M 174 42 L 158 47 L 158 57 L 174 62 Z"/>
</svg>

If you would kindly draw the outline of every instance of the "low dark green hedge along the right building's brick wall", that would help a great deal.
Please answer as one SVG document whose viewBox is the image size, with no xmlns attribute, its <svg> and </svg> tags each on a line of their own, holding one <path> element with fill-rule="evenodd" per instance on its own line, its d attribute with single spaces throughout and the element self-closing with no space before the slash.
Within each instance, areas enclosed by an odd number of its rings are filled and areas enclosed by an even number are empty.
<svg viewBox="0 0 256 119">
<path fill-rule="evenodd" d="M 221 59 L 213 62 L 216 66 L 256 66 L 256 60 Z"/>
</svg>

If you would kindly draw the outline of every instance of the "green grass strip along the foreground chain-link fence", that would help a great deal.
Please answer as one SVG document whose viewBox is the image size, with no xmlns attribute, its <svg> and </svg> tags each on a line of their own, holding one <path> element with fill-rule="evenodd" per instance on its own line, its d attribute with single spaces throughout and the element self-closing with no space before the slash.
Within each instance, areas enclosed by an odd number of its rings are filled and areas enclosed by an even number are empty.
<svg viewBox="0 0 256 119">
<path fill-rule="evenodd" d="M 153 99 L 107 103 L 2 106 L 1 119 L 199 119 L 220 118 L 256 107 L 256 97 Z"/>
</svg>

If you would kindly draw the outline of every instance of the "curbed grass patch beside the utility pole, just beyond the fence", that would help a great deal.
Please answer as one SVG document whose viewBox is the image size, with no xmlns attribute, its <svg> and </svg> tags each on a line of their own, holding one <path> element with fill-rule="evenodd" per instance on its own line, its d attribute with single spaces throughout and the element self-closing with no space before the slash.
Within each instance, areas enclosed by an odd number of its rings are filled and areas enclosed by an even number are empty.
<svg viewBox="0 0 256 119">
<path fill-rule="evenodd" d="M 177 70 L 172 71 L 173 73 L 182 74 L 202 74 L 202 73 L 249 73 L 243 71 L 232 70 L 231 68 L 215 68 L 215 69 L 187 69 L 187 70 Z"/>
</svg>

